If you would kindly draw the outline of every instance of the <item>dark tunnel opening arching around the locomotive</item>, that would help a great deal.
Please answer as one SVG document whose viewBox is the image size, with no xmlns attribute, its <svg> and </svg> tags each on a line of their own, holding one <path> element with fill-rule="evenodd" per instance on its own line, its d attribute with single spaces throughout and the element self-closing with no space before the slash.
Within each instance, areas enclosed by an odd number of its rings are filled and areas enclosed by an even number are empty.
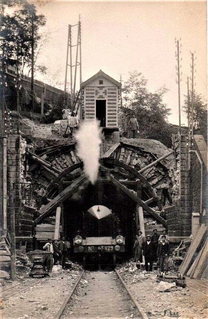
<svg viewBox="0 0 208 319">
<path fill-rule="evenodd" d="M 116 235 L 118 230 L 121 230 L 122 235 L 125 237 L 125 256 L 133 256 L 133 242 L 136 232 L 136 204 L 108 180 L 97 180 L 95 185 L 88 184 L 86 188 L 78 190 L 64 202 L 64 235 L 71 242 L 73 242 L 77 230 L 80 230 L 84 236 L 84 216 L 90 207 L 94 205 L 103 205 L 112 211 L 114 235 Z M 101 236 L 103 235 L 104 231 Z"/>
</svg>

